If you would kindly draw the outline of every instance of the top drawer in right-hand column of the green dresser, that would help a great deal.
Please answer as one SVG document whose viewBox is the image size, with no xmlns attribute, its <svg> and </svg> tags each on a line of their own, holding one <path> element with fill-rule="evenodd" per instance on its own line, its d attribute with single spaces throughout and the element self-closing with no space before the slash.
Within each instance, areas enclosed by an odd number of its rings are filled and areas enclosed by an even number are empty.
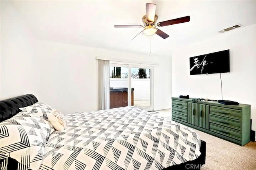
<svg viewBox="0 0 256 170">
<path fill-rule="evenodd" d="M 238 120 L 242 118 L 242 110 L 223 108 L 218 106 L 210 106 L 210 114 Z"/>
</svg>

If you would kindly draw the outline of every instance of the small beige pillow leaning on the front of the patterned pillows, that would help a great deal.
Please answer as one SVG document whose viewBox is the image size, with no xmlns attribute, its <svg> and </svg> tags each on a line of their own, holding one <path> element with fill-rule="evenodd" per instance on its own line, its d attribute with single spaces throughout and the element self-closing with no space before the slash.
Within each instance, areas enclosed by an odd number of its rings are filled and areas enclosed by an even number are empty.
<svg viewBox="0 0 256 170">
<path fill-rule="evenodd" d="M 54 129 L 58 131 L 64 131 L 67 123 L 67 119 L 63 113 L 58 110 L 53 110 L 51 113 L 47 113 L 48 121 L 52 124 Z"/>
</svg>

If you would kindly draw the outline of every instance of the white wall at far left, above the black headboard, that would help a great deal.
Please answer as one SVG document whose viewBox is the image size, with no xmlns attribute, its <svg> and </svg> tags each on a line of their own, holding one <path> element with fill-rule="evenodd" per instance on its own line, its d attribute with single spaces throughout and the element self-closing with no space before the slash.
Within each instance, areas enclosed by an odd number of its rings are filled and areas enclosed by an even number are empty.
<svg viewBox="0 0 256 170">
<path fill-rule="evenodd" d="M 10 1 L 1 1 L 0 100 L 34 93 L 35 37 Z"/>
</svg>

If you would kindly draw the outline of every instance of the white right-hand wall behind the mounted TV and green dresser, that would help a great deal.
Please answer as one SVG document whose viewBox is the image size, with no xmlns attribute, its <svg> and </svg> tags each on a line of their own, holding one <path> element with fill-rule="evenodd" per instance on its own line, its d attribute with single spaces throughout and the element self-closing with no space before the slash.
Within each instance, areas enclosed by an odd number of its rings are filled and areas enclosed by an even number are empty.
<svg viewBox="0 0 256 170">
<path fill-rule="evenodd" d="M 190 76 L 189 57 L 230 49 L 230 73 L 223 73 L 223 100 L 251 105 L 256 130 L 256 24 L 176 49 L 172 59 L 172 96 L 221 100 L 220 74 Z"/>
</svg>

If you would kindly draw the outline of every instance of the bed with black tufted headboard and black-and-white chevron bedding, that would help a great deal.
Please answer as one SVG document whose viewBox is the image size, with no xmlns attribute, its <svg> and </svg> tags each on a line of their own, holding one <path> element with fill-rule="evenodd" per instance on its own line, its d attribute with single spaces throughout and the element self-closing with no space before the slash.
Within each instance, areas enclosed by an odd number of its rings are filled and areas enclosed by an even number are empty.
<svg viewBox="0 0 256 170">
<path fill-rule="evenodd" d="M 180 170 L 205 164 L 206 143 L 196 132 L 139 107 L 65 115 L 66 128 L 58 131 L 44 115 L 19 109 L 37 103 L 32 94 L 0 101 L 1 170 Z M 22 135 L 11 139 L 12 133 Z"/>
</svg>

